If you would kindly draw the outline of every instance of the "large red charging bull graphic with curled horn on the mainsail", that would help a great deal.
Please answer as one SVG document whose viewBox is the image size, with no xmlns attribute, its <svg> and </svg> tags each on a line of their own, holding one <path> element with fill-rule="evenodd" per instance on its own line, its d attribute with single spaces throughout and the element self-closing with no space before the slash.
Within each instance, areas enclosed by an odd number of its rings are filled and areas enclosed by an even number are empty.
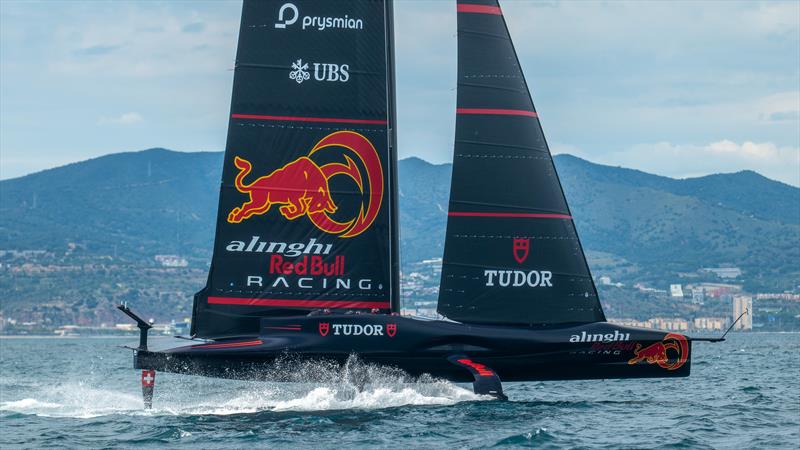
<svg viewBox="0 0 800 450">
<path fill-rule="evenodd" d="M 345 152 L 342 152 L 343 162 L 318 165 L 313 161 L 315 153 L 335 148 L 352 151 L 363 169 Z M 250 199 L 231 210 L 229 223 L 240 223 L 267 213 L 273 205 L 280 205 L 278 211 L 287 220 L 308 216 L 320 230 L 349 238 L 372 225 L 383 201 L 383 168 L 378 152 L 367 138 L 353 131 L 337 131 L 325 136 L 307 156 L 301 156 L 249 184 L 245 184 L 244 179 L 253 168 L 250 161 L 237 156 L 233 163 L 239 169 L 234 180 L 236 190 L 247 194 Z M 358 214 L 347 221 L 331 217 L 338 207 L 331 196 L 328 181 L 340 175 L 351 178 L 362 197 L 366 198 L 362 200 Z M 368 187 L 368 192 L 365 187 Z"/>
</svg>

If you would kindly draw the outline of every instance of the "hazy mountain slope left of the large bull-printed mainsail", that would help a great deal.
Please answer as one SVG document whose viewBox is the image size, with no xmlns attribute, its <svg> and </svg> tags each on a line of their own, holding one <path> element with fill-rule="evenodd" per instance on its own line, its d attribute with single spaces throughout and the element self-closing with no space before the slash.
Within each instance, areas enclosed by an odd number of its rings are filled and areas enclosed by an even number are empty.
<svg viewBox="0 0 800 450">
<path fill-rule="evenodd" d="M 221 168 L 219 152 L 150 149 L 2 181 L 0 249 L 208 256 Z"/>
</svg>

